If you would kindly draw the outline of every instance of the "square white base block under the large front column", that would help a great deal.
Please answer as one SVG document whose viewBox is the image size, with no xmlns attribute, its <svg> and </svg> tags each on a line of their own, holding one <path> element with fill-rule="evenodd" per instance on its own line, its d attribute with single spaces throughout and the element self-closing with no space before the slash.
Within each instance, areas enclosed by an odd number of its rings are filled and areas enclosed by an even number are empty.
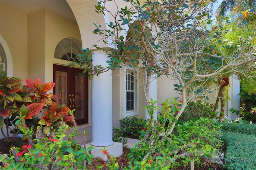
<svg viewBox="0 0 256 170">
<path fill-rule="evenodd" d="M 90 143 L 86 144 L 86 148 L 89 146 L 92 146 Z M 96 157 L 100 157 L 103 160 L 107 160 L 107 156 L 103 154 L 101 150 L 103 150 L 104 147 L 102 146 L 93 146 L 94 148 L 91 150 L 92 155 Z M 114 142 L 114 144 L 110 146 L 106 146 L 105 150 L 108 151 L 110 155 L 113 155 L 115 158 L 118 156 L 121 156 L 123 154 L 123 144 L 120 142 Z"/>
</svg>

